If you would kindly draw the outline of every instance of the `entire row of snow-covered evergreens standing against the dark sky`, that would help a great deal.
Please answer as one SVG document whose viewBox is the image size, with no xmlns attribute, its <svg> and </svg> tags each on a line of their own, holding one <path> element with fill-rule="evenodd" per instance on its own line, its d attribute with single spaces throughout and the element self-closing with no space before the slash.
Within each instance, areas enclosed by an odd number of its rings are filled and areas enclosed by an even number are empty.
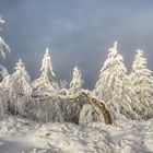
<svg viewBox="0 0 153 153">
<path fill-rule="evenodd" d="M 0 23 L 4 21 L 0 16 Z M 5 57 L 9 46 L 0 37 L 0 55 Z M 54 78 L 52 63 L 49 49 L 43 58 L 40 76 L 33 82 L 25 70 L 24 63 L 20 59 L 15 63 L 14 72 L 9 74 L 7 69 L 1 66 L 0 91 L 10 98 L 22 95 L 30 98 L 33 94 L 63 94 L 75 95 L 81 92 L 83 80 L 81 70 L 75 67 L 70 87 L 66 89 L 67 83 L 57 83 Z M 109 110 L 116 110 L 133 119 L 148 119 L 153 117 L 153 75 L 148 69 L 146 58 L 142 50 L 137 50 L 132 71 L 127 73 L 123 58 L 117 50 L 117 43 L 108 50 L 108 58 L 102 67 L 98 81 L 92 94 L 106 104 Z"/>
</svg>

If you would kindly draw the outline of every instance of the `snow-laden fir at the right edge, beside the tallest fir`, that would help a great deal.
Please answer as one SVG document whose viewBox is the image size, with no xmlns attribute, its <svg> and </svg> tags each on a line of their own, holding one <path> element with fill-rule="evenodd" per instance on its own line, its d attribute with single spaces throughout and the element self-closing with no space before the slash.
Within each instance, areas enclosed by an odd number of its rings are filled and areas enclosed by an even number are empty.
<svg viewBox="0 0 153 153">
<path fill-rule="evenodd" d="M 133 90 L 141 102 L 142 117 L 153 117 L 153 75 L 148 69 L 146 58 L 143 50 L 137 50 L 136 59 L 132 64 L 130 82 L 133 84 Z"/>
</svg>

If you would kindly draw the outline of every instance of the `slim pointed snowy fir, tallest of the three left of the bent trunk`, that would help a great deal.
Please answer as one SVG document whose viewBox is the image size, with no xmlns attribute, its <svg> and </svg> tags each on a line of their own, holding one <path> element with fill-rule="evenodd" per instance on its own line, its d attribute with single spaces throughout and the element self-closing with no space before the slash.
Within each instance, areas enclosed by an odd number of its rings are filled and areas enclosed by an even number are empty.
<svg viewBox="0 0 153 153">
<path fill-rule="evenodd" d="M 49 48 L 46 49 L 39 71 L 40 78 L 33 82 L 33 90 L 37 92 L 55 92 L 57 90 L 57 83 L 54 81 L 55 73 L 49 56 Z"/>
</svg>

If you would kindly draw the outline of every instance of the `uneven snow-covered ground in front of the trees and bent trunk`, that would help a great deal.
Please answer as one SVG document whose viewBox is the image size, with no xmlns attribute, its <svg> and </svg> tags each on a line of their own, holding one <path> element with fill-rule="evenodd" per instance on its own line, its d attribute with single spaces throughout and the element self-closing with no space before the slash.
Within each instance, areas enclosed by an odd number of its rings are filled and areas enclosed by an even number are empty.
<svg viewBox="0 0 153 153">
<path fill-rule="evenodd" d="M 153 119 L 117 117 L 104 122 L 38 123 L 8 117 L 0 121 L 0 153 L 152 153 Z"/>
</svg>

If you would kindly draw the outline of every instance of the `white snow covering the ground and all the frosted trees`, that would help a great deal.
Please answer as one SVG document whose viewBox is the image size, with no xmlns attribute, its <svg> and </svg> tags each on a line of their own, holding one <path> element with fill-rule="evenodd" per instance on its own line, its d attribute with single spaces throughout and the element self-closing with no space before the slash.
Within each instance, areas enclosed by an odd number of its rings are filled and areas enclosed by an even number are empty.
<svg viewBox="0 0 153 153">
<path fill-rule="evenodd" d="M 3 23 L 0 15 L 0 28 Z M 4 58 L 7 51 L 10 48 L 0 36 L 0 57 Z M 54 80 L 48 48 L 40 76 L 32 84 L 21 59 L 13 74 L 0 66 L 0 153 L 152 153 L 153 119 L 138 121 L 126 116 L 153 116 L 153 73 L 146 68 L 142 50 L 138 50 L 130 75 L 117 43 L 108 51 L 92 94 L 109 109 L 109 126 L 86 101 L 73 97 L 83 84 L 78 67 L 69 89 L 66 81 L 58 84 Z"/>
</svg>

